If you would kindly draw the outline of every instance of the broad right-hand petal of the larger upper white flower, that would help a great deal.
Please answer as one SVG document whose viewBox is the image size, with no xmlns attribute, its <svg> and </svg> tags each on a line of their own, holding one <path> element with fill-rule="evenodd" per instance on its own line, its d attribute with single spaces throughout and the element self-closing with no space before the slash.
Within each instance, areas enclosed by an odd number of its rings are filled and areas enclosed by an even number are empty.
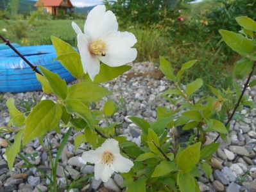
<svg viewBox="0 0 256 192">
<path fill-rule="evenodd" d="M 118 67 L 134 61 L 137 50 L 131 48 L 137 39 L 132 33 L 114 31 L 109 33 L 103 41 L 107 44 L 106 56 L 99 57 L 106 65 Z"/>
</svg>

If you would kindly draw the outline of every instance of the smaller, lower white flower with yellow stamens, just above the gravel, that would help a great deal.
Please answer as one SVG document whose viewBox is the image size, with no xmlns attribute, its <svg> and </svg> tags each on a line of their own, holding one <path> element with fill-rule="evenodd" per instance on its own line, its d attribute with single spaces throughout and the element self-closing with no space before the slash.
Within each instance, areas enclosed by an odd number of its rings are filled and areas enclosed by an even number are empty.
<svg viewBox="0 0 256 192">
<path fill-rule="evenodd" d="M 120 154 L 118 141 L 107 139 L 101 147 L 96 150 L 83 152 L 80 163 L 94 163 L 94 177 L 107 182 L 114 172 L 127 173 L 133 166 L 130 159 L 126 159 Z"/>
</svg>

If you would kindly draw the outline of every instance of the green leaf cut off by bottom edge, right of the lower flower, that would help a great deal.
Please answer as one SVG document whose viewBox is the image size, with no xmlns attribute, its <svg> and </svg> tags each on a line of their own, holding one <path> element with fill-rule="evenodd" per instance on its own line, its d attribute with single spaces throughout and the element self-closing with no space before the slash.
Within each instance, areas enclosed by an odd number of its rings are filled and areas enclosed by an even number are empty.
<svg viewBox="0 0 256 192">
<path fill-rule="evenodd" d="M 195 180 L 189 173 L 178 172 L 177 184 L 180 192 L 195 192 Z"/>
</svg>

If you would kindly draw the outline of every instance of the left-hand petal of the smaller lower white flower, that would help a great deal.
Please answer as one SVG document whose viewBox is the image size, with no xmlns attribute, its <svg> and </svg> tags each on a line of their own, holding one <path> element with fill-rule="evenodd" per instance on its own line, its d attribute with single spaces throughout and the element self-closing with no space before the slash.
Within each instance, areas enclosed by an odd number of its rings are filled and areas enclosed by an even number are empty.
<svg viewBox="0 0 256 192">
<path fill-rule="evenodd" d="M 103 148 L 99 147 L 96 150 L 89 150 L 87 152 L 83 152 L 81 159 L 90 163 L 99 163 L 101 162 L 101 157 L 103 154 Z"/>
</svg>

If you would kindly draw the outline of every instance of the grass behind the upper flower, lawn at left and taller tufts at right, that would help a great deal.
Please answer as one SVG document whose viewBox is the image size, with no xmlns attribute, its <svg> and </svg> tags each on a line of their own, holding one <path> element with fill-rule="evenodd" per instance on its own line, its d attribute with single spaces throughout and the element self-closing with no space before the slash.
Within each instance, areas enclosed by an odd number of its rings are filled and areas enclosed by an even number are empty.
<svg viewBox="0 0 256 192">
<path fill-rule="evenodd" d="M 21 45 L 51 44 L 51 35 L 54 35 L 76 46 L 76 33 L 71 22 L 72 20 L 0 20 L 0 33 L 11 42 Z M 84 20 L 74 22 L 83 28 Z M 3 28 L 8 32 L 2 32 Z M 198 63 L 185 74 L 183 83 L 200 77 L 205 84 L 225 84 L 223 79 L 228 76 L 233 61 L 228 61 L 230 58 L 223 54 L 221 45 L 217 45 L 216 36 L 207 34 L 200 24 L 192 27 L 188 24 L 167 24 L 151 28 L 131 26 L 121 28 L 121 31 L 130 31 L 137 37 L 137 61 L 158 63 L 159 56 L 164 56 L 178 70 L 182 63 L 196 59 Z"/>
</svg>

